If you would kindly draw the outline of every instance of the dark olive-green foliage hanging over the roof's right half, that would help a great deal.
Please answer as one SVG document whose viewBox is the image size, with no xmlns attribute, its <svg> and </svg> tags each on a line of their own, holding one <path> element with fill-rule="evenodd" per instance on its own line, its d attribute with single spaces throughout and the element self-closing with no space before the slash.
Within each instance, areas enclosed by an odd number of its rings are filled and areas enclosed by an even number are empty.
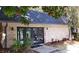
<svg viewBox="0 0 79 59">
<path fill-rule="evenodd" d="M 64 15 L 64 7 L 63 6 L 43 6 L 44 12 L 47 12 L 50 16 L 55 18 L 59 18 Z"/>
</svg>

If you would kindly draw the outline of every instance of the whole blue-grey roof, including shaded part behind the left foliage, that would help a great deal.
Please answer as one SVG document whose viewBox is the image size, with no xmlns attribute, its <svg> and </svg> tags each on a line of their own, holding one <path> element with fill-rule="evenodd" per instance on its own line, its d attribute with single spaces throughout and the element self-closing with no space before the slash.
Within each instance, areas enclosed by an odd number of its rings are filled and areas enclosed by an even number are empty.
<svg viewBox="0 0 79 59">
<path fill-rule="evenodd" d="M 30 10 L 27 12 L 29 21 L 34 24 L 67 24 L 67 18 L 65 16 L 60 17 L 59 19 L 55 19 L 52 16 L 49 16 L 46 13 L 38 12 L 38 11 L 33 11 Z M 14 16 L 9 20 L 7 16 L 5 16 L 1 11 L 0 11 L 0 21 L 12 21 L 12 22 L 19 22 L 20 16 Z"/>
</svg>

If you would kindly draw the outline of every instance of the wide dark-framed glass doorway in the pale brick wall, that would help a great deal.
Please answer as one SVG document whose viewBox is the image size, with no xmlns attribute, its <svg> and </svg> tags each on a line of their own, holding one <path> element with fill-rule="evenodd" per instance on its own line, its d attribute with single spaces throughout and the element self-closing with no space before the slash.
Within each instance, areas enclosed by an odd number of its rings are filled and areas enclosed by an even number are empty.
<svg viewBox="0 0 79 59">
<path fill-rule="evenodd" d="M 17 39 L 23 41 L 24 38 L 32 39 L 32 47 L 38 47 L 44 43 L 44 28 L 43 27 L 18 27 Z"/>
</svg>

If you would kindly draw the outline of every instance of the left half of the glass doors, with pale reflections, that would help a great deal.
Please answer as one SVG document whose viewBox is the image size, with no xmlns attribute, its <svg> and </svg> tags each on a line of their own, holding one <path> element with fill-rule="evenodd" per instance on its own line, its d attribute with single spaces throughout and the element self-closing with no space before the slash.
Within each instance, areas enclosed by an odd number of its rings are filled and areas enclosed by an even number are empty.
<svg viewBox="0 0 79 59">
<path fill-rule="evenodd" d="M 23 44 L 23 40 L 27 38 L 31 38 L 30 29 L 18 27 L 17 28 L 17 39 L 20 40 L 21 43 Z"/>
</svg>

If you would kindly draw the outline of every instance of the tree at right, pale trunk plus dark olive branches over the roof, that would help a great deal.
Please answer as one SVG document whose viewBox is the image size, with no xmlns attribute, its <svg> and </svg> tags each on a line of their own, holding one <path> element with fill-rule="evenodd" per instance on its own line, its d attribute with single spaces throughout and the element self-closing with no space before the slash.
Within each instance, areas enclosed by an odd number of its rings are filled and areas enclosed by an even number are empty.
<svg viewBox="0 0 79 59">
<path fill-rule="evenodd" d="M 66 16 L 68 20 L 69 27 L 69 39 L 71 39 L 72 30 L 78 28 L 78 7 L 69 7 L 69 6 L 43 6 L 43 11 L 48 13 L 50 16 L 59 18 L 61 16 Z M 74 38 L 77 35 L 74 35 Z"/>
</svg>

